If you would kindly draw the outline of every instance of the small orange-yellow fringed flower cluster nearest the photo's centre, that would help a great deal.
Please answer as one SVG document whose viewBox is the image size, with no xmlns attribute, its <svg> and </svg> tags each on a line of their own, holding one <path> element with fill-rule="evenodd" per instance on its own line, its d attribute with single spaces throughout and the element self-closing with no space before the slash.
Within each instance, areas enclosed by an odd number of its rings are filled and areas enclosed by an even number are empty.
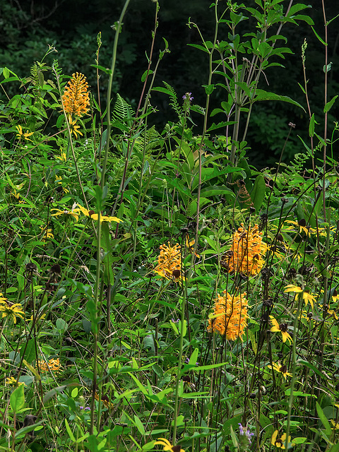
<svg viewBox="0 0 339 452">
<path fill-rule="evenodd" d="M 168 246 L 165 244 L 160 245 L 160 255 L 157 258 L 157 266 L 154 271 L 167 280 L 180 279 L 182 256 L 179 244 L 171 246 L 168 242 Z"/>
</svg>

